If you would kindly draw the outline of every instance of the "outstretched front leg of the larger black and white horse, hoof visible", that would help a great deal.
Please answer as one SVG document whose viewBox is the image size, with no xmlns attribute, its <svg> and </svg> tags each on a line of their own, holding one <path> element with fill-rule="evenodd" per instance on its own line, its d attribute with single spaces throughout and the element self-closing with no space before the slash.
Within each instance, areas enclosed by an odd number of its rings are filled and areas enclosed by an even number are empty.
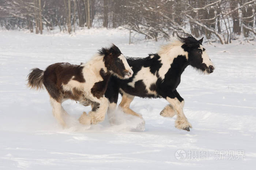
<svg viewBox="0 0 256 170">
<path fill-rule="evenodd" d="M 177 90 L 173 91 L 173 93 L 167 96 L 166 100 L 172 105 L 173 110 L 176 111 L 177 119 L 175 121 L 175 127 L 177 129 L 190 131 L 189 128 L 192 128 L 192 125 L 188 122 L 183 112 L 185 102 L 180 94 L 178 94 Z"/>
</svg>

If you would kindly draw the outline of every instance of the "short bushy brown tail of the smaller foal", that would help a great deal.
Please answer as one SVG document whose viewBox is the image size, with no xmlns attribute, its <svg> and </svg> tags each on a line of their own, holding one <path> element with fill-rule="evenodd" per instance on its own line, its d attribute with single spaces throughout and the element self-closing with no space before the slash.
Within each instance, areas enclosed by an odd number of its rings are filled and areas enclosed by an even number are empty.
<svg viewBox="0 0 256 170">
<path fill-rule="evenodd" d="M 33 68 L 27 75 L 27 86 L 36 90 L 44 88 L 43 84 L 44 71 L 39 68 Z"/>
</svg>

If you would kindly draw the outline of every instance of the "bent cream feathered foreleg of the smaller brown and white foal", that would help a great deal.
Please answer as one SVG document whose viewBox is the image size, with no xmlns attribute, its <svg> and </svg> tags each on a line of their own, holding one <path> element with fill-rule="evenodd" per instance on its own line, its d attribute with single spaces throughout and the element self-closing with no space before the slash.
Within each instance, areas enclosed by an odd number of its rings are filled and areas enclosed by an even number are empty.
<svg viewBox="0 0 256 170">
<path fill-rule="evenodd" d="M 85 125 L 97 124 L 105 119 L 105 114 L 108 110 L 108 99 L 105 97 L 95 98 L 94 96 L 89 96 L 90 100 L 93 102 L 94 106 L 92 110 L 86 114 L 84 112 L 80 118 L 79 122 Z"/>
</svg>

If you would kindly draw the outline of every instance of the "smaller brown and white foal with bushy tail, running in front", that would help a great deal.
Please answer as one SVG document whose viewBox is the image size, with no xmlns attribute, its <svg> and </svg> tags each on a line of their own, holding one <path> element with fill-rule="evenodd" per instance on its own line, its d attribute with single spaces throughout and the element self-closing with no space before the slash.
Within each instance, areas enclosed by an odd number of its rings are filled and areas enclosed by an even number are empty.
<svg viewBox="0 0 256 170">
<path fill-rule="evenodd" d="M 111 75 L 120 79 L 130 78 L 133 74 L 127 60 L 114 44 L 102 48 L 89 62 L 73 65 L 55 63 L 45 71 L 34 68 L 28 75 L 28 86 L 40 89 L 45 86 L 50 95 L 53 115 L 64 127 L 63 116 L 67 112 L 61 103 L 73 99 L 84 106 L 92 106 L 79 118 L 80 123 L 90 125 L 102 122 L 108 110 L 108 99 L 104 97 Z"/>
</svg>

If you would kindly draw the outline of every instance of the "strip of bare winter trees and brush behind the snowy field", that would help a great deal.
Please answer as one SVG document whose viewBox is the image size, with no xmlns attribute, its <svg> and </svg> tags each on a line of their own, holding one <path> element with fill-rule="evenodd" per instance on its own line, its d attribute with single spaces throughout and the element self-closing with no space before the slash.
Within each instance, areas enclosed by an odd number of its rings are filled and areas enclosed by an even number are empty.
<svg viewBox="0 0 256 170">
<path fill-rule="evenodd" d="M 178 32 L 229 44 L 255 39 L 255 12 L 256 0 L 0 0 L 0 27 L 42 34 L 122 26 L 155 41 Z"/>
</svg>

